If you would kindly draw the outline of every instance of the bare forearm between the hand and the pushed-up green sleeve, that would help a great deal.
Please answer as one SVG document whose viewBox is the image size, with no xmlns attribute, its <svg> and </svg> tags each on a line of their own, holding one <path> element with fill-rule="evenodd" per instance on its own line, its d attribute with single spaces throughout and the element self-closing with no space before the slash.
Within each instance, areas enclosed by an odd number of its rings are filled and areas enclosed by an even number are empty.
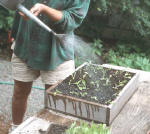
<svg viewBox="0 0 150 134">
<path fill-rule="evenodd" d="M 46 5 L 43 5 L 43 13 L 46 14 L 52 21 L 56 22 L 61 20 L 62 12 Z"/>
</svg>

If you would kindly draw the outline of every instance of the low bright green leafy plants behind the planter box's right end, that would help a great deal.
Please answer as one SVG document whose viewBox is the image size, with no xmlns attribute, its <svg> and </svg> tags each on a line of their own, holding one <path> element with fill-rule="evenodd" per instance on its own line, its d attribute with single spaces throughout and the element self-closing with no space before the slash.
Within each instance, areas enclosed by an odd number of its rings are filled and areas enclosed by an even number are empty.
<svg viewBox="0 0 150 134">
<path fill-rule="evenodd" d="M 137 47 L 134 43 L 118 42 L 108 50 L 104 59 L 114 65 L 150 71 L 150 51 L 142 46 Z"/>
</svg>

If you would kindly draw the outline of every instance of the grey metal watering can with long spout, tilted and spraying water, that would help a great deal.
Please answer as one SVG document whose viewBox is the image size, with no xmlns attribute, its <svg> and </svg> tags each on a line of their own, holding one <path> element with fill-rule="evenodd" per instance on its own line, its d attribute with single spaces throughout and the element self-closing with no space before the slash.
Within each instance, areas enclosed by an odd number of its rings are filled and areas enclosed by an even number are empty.
<svg viewBox="0 0 150 134">
<path fill-rule="evenodd" d="M 19 11 L 24 13 L 29 19 L 31 19 L 32 21 L 36 22 L 39 26 L 44 28 L 46 31 L 51 32 L 62 42 L 65 35 L 55 33 L 51 28 L 49 28 L 45 23 L 43 23 L 38 17 L 33 15 L 27 8 L 25 8 L 21 4 L 23 1 L 24 0 L 0 0 L 0 5 L 10 10 L 18 9 Z"/>
</svg>

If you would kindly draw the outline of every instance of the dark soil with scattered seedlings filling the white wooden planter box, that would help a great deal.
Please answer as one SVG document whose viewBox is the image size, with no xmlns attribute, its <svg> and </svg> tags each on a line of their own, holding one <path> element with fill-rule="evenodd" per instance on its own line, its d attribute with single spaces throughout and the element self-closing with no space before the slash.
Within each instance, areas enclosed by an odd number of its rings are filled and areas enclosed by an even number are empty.
<svg viewBox="0 0 150 134">
<path fill-rule="evenodd" d="M 133 76 L 134 73 L 89 64 L 65 79 L 52 92 L 109 105 Z"/>
</svg>

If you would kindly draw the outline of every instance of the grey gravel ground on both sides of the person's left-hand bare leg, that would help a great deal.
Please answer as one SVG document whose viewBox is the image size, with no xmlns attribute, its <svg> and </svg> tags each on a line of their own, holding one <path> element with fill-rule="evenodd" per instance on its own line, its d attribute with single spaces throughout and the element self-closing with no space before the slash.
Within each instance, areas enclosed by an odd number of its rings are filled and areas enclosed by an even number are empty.
<svg viewBox="0 0 150 134">
<path fill-rule="evenodd" d="M 7 51 L 0 52 L 0 134 L 7 134 L 9 124 L 11 123 L 11 96 L 13 82 L 11 76 L 10 56 Z M 2 84 L 8 83 L 8 84 Z M 34 86 L 43 87 L 41 80 L 34 82 Z M 44 90 L 32 89 L 28 100 L 28 109 L 25 119 L 34 115 L 37 111 L 44 107 Z"/>
</svg>

